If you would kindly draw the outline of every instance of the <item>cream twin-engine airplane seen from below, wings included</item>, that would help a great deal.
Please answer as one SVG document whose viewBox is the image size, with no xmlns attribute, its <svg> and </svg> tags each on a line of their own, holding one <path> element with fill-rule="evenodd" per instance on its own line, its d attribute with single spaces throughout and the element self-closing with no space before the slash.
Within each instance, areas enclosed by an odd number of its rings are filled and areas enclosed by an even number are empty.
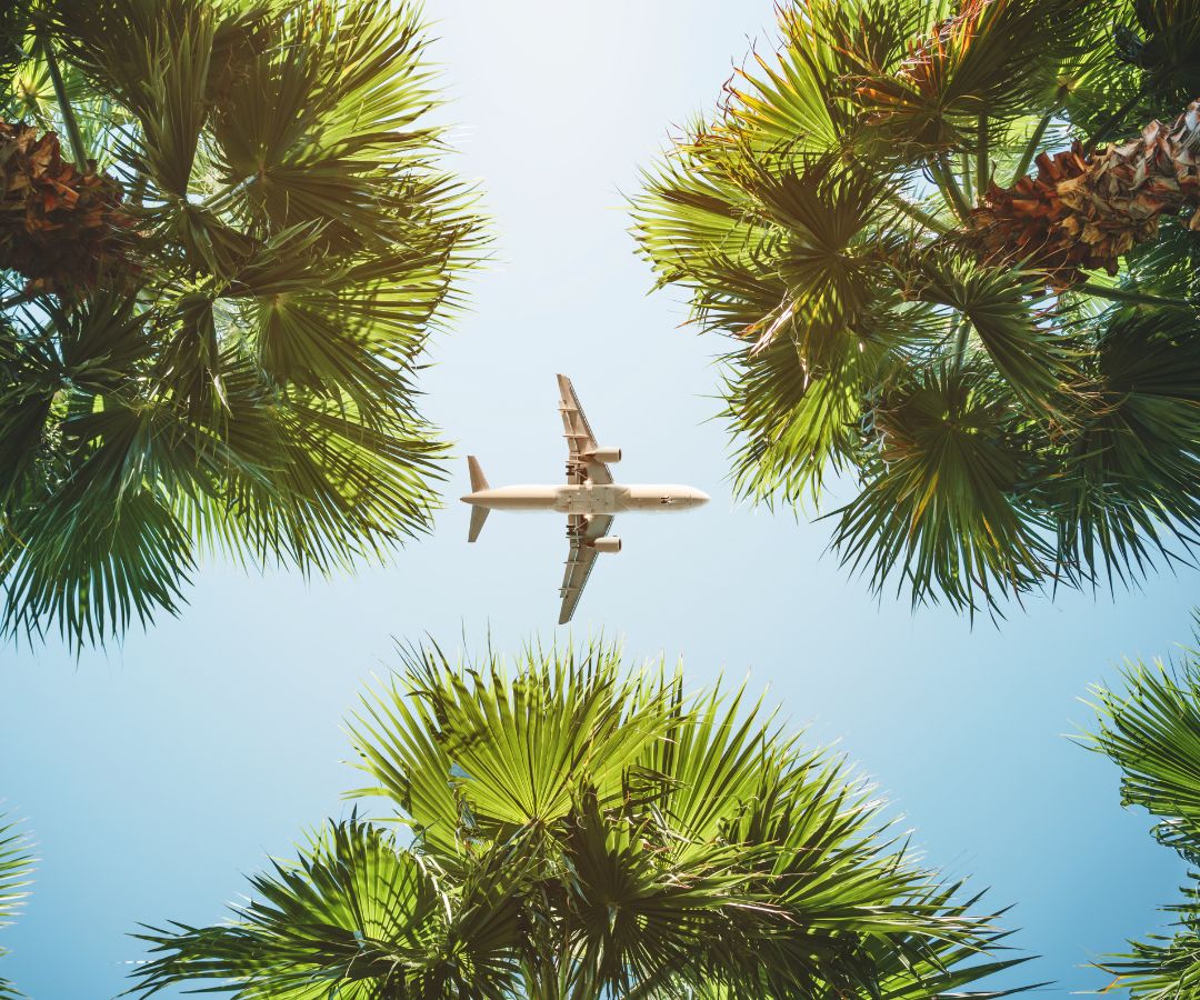
<svg viewBox="0 0 1200 1000">
<path fill-rule="evenodd" d="M 592 567 L 601 552 L 620 551 L 620 539 L 610 535 L 613 519 L 626 511 L 690 510 L 708 503 L 708 495 L 692 486 L 676 484 L 623 485 L 614 483 L 610 463 L 620 461 L 619 448 L 601 448 L 583 415 L 575 387 L 565 375 L 558 376 L 558 412 L 563 415 L 566 438 L 566 484 L 562 486 L 487 485 L 474 455 L 467 456 L 470 492 L 462 497 L 472 505 L 467 541 L 474 541 L 492 510 L 553 510 L 566 515 L 566 539 L 571 545 L 559 597 L 563 606 L 560 625 L 571 621 Z"/>
</svg>

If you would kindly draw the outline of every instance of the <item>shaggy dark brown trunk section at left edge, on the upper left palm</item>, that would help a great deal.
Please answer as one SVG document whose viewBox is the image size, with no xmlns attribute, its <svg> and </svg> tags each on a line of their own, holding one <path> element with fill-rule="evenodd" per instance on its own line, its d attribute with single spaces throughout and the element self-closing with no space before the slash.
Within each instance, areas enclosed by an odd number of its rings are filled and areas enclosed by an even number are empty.
<svg viewBox="0 0 1200 1000">
<path fill-rule="evenodd" d="M 79 170 L 59 137 L 0 121 L 0 269 L 37 292 L 73 294 L 124 258 L 130 220 L 121 185 L 95 163 Z"/>
</svg>

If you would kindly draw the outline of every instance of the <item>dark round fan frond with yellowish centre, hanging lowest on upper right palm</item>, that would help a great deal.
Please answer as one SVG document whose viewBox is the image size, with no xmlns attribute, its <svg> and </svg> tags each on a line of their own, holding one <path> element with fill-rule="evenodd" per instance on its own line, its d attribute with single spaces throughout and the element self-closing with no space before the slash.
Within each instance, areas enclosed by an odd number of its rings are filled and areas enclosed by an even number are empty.
<svg viewBox="0 0 1200 1000">
<path fill-rule="evenodd" d="M 1010 396 L 979 369 L 910 372 L 872 412 L 862 492 L 836 511 L 833 546 L 882 589 L 994 606 L 1045 579 L 1054 551 L 1030 501 L 1039 469 Z"/>
</svg>

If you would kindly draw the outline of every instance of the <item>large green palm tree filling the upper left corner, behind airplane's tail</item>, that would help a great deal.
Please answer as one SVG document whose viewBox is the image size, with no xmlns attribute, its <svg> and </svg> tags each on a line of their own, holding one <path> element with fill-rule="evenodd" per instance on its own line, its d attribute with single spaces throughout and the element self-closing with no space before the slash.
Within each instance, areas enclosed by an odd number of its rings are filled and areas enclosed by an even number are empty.
<svg viewBox="0 0 1200 1000">
<path fill-rule="evenodd" d="M 480 236 L 415 5 L 6 10 L 0 631 L 119 636 L 200 549 L 329 571 L 426 531 L 415 377 Z"/>
</svg>

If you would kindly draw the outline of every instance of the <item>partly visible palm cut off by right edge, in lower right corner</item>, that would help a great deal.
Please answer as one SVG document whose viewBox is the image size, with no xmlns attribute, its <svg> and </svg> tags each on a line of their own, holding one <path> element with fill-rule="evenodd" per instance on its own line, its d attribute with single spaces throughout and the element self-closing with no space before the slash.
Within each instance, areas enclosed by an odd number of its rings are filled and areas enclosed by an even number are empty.
<svg viewBox="0 0 1200 1000">
<path fill-rule="evenodd" d="M 1123 772 L 1121 804 L 1158 816 L 1159 843 L 1192 866 L 1200 864 L 1200 629 L 1196 639 L 1176 663 L 1128 664 L 1123 690 L 1093 688 L 1099 731 L 1088 741 Z M 1111 989 L 1135 1000 L 1200 995 L 1200 872 L 1188 873 L 1182 892 L 1164 908 L 1172 933 L 1133 941 L 1099 966 L 1116 976 Z"/>
</svg>

